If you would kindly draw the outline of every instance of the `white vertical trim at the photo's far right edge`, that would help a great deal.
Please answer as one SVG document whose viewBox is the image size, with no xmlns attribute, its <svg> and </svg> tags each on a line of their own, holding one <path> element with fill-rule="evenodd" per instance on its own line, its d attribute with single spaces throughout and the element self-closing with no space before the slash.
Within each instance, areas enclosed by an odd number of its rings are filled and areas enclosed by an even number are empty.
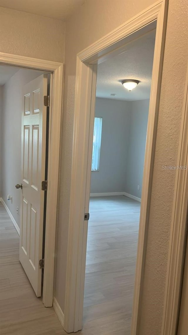
<svg viewBox="0 0 188 335">
<path fill-rule="evenodd" d="M 188 166 L 188 65 L 177 165 Z M 175 335 L 181 299 L 182 269 L 187 229 L 188 169 L 177 170 L 166 276 L 162 335 Z"/>
</svg>

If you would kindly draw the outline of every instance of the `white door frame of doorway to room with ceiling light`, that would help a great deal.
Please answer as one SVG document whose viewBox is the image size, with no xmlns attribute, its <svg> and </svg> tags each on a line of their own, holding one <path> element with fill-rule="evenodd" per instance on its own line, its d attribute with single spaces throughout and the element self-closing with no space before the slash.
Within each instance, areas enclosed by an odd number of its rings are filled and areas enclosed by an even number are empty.
<svg viewBox="0 0 188 335">
<path fill-rule="evenodd" d="M 142 298 L 145 254 L 147 247 L 167 8 L 168 0 L 157 1 L 155 4 L 125 22 L 110 32 L 110 34 L 98 40 L 96 43 L 77 55 L 73 159 L 64 311 L 64 329 L 69 333 L 76 332 L 82 328 L 85 254 L 87 243 L 87 224 L 84 224 L 84 213 L 85 203 L 87 201 L 87 197 L 89 197 L 89 190 L 86 182 L 87 169 L 90 164 L 90 162 L 88 162 L 88 143 L 89 139 L 91 139 L 89 127 L 90 122 L 92 123 L 90 118 L 92 119 L 92 117 L 94 117 L 92 84 L 96 81 L 96 67 L 93 64 L 99 63 L 102 57 L 104 59 L 107 54 L 121 47 L 126 42 L 131 41 L 131 34 L 135 33 L 134 35 L 136 35 L 138 33 L 139 35 L 139 31 L 141 31 L 140 29 L 143 31 L 145 28 L 147 29 L 147 25 L 151 22 L 157 21 L 131 325 L 131 335 L 138 334 L 140 300 Z"/>
</svg>

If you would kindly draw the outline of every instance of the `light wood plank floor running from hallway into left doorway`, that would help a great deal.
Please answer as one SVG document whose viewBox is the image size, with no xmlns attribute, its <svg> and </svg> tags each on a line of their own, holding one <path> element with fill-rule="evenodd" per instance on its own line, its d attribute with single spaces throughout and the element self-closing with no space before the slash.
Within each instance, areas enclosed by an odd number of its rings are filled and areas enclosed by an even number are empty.
<svg viewBox="0 0 188 335">
<path fill-rule="evenodd" d="M 67 334 L 37 298 L 19 262 L 19 236 L 0 202 L 0 334 Z"/>
</svg>

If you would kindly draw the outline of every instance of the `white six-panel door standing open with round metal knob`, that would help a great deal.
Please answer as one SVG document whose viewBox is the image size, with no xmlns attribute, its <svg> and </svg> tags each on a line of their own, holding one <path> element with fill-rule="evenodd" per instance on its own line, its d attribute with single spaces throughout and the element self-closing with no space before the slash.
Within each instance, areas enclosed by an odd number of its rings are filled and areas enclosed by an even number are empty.
<svg viewBox="0 0 188 335">
<path fill-rule="evenodd" d="M 45 179 L 47 76 L 41 75 L 23 87 L 21 126 L 21 206 L 19 260 L 36 293 L 41 295 Z"/>
</svg>

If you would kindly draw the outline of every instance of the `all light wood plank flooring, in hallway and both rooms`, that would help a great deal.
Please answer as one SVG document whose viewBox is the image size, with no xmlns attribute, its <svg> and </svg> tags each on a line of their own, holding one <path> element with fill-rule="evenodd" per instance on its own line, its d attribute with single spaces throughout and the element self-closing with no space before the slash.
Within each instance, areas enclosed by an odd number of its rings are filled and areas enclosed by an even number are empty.
<svg viewBox="0 0 188 335">
<path fill-rule="evenodd" d="M 91 198 L 83 329 L 78 335 L 130 335 L 140 203 Z M 65 335 L 19 263 L 19 237 L 0 202 L 0 334 Z"/>
</svg>

